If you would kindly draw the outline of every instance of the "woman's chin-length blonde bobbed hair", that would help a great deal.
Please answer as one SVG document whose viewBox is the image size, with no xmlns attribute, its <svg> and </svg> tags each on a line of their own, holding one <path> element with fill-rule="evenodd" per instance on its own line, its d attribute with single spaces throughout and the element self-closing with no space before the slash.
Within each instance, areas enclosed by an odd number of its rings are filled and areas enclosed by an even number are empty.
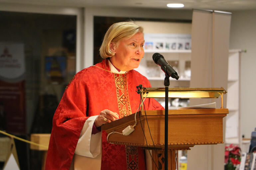
<svg viewBox="0 0 256 170">
<path fill-rule="evenodd" d="M 143 33 L 143 28 L 131 22 L 120 22 L 111 25 L 103 39 L 99 49 L 99 54 L 102 58 L 112 57 L 114 52 L 110 50 L 110 43 L 118 45 L 120 40 L 129 39 L 138 32 Z"/>
</svg>

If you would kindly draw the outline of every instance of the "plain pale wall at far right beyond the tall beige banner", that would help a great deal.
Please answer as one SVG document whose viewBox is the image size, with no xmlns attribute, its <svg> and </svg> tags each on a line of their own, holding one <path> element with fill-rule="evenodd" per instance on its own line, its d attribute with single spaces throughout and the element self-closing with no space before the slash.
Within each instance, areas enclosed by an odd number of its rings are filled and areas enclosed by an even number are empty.
<svg viewBox="0 0 256 170">
<path fill-rule="evenodd" d="M 256 10 L 233 11 L 229 49 L 246 49 L 240 63 L 241 133 L 251 138 L 256 127 Z"/>
</svg>

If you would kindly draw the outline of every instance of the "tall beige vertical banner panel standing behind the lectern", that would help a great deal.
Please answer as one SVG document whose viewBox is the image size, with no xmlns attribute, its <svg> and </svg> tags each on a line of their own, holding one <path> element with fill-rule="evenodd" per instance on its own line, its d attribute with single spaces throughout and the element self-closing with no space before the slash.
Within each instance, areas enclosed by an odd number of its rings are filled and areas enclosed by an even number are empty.
<svg viewBox="0 0 256 170">
<path fill-rule="evenodd" d="M 224 87 L 227 89 L 230 13 L 194 10 L 192 16 L 191 87 Z M 190 105 L 220 99 L 191 99 Z M 226 96 L 224 95 L 224 108 Z M 223 119 L 223 142 L 225 118 Z M 223 170 L 224 144 L 195 145 L 188 151 L 188 169 Z"/>
</svg>

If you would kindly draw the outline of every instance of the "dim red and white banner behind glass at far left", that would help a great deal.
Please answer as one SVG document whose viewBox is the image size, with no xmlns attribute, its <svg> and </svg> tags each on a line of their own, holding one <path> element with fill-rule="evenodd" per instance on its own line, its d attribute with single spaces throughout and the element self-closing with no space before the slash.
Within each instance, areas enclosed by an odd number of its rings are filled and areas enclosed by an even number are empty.
<svg viewBox="0 0 256 170">
<path fill-rule="evenodd" d="M 24 44 L 0 42 L 0 104 L 4 130 L 26 133 Z"/>
</svg>

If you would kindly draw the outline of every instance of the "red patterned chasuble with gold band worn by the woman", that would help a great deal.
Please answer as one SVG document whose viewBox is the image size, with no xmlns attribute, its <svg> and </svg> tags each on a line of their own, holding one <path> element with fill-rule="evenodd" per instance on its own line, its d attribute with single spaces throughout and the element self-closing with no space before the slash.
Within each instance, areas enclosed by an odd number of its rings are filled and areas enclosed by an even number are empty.
<svg viewBox="0 0 256 170">
<path fill-rule="evenodd" d="M 69 170 L 84 122 L 90 116 L 99 115 L 104 109 L 118 113 L 119 118 L 135 113 L 140 103 L 136 92 L 139 84 L 151 87 L 147 78 L 135 70 L 125 74 L 110 72 L 107 59 L 78 72 L 66 87 L 53 118 L 46 170 Z M 153 98 L 144 103 L 146 110 L 163 110 Z M 102 170 L 146 169 L 141 147 L 110 144 L 106 138 L 103 131 Z"/>
</svg>

